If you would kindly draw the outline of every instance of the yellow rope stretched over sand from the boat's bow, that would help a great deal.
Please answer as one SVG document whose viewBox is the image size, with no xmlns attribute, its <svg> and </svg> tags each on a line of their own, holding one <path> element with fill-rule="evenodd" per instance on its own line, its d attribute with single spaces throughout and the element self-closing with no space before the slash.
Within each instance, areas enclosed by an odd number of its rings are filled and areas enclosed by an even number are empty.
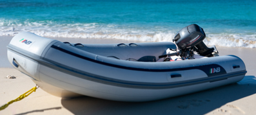
<svg viewBox="0 0 256 115">
<path fill-rule="evenodd" d="M 14 102 L 18 102 L 20 100 L 22 100 L 23 98 L 26 98 L 28 95 L 30 95 L 31 93 L 35 92 L 35 90 L 38 88 L 39 86 L 35 85 L 35 87 L 33 87 L 32 89 L 30 89 L 29 91 L 27 91 L 24 94 L 21 94 L 21 96 L 19 96 L 18 98 L 16 98 L 15 100 L 12 100 L 8 103 L 6 103 L 5 105 L 0 107 L 0 111 L 2 111 L 3 109 L 5 109 L 6 107 L 8 107 L 8 105 L 14 103 Z"/>
</svg>

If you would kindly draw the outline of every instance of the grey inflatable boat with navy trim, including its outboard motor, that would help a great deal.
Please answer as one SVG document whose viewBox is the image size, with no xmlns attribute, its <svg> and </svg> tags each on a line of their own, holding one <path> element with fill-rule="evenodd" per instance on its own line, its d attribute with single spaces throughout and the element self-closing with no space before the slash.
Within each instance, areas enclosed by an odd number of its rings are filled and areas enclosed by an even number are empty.
<svg viewBox="0 0 256 115">
<path fill-rule="evenodd" d="M 44 91 L 71 98 L 145 102 L 195 93 L 239 82 L 246 74 L 241 58 L 217 56 L 192 24 L 173 42 L 71 44 L 18 33 L 8 44 L 8 60 Z"/>
</svg>

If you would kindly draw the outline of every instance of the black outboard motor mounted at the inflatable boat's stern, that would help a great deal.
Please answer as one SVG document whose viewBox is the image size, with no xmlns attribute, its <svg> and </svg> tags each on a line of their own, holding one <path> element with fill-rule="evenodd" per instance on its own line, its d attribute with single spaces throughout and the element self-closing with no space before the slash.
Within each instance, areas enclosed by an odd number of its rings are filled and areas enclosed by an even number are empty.
<svg viewBox="0 0 256 115">
<path fill-rule="evenodd" d="M 175 35 L 173 42 L 179 49 L 179 55 L 182 58 L 193 58 L 193 51 L 204 57 L 213 57 L 214 48 L 208 48 L 202 40 L 206 37 L 204 30 L 197 24 L 191 24 L 182 28 Z"/>
</svg>

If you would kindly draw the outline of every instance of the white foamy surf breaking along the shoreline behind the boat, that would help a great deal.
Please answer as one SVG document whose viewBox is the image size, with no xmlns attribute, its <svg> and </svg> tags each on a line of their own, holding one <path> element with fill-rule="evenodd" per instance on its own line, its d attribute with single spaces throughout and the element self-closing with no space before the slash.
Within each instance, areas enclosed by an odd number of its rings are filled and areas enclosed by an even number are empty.
<svg viewBox="0 0 256 115">
<path fill-rule="evenodd" d="M 143 42 L 172 41 L 179 31 L 178 29 L 159 27 L 145 29 L 115 24 L 57 24 L 52 21 L 19 22 L 5 19 L 0 19 L 0 28 L 1 36 L 14 36 L 21 31 L 30 31 L 43 37 L 124 39 Z M 209 46 L 256 48 L 256 33 L 211 33 L 207 31 L 206 36 L 204 43 Z"/>
</svg>

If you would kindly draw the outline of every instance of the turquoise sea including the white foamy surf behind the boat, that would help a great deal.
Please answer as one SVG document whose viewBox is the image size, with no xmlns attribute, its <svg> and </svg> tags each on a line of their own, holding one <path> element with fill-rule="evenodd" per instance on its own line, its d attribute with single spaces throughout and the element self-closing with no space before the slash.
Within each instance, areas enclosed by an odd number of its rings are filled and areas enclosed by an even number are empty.
<svg viewBox="0 0 256 115">
<path fill-rule="evenodd" d="M 0 35 L 172 41 L 198 24 L 208 45 L 256 48 L 255 0 L 0 0 Z"/>
</svg>

